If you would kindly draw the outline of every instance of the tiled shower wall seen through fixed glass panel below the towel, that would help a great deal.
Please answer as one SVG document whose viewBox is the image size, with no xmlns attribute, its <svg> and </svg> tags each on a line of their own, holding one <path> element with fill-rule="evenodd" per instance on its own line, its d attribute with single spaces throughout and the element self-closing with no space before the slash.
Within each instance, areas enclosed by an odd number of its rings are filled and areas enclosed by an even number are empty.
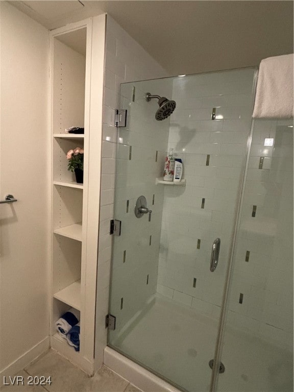
<svg viewBox="0 0 294 392">
<path fill-rule="evenodd" d="M 241 211 L 228 325 L 292 350 L 293 121 L 255 120 Z"/>
</svg>

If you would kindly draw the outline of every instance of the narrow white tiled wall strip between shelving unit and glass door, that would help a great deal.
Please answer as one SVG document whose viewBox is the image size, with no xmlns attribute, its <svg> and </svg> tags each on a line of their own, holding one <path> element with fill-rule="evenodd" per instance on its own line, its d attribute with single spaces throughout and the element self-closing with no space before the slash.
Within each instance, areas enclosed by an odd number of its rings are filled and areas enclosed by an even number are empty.
<svg viewBox="0 0 294 392">
<path fill-rule="evenodd" d="M 112 241 L 109 225 L 113 217 L 115 143 L 118 133 L 118 129 L 114 127 L 114 109 L 119 107 L 120 83 L 167 76 L 165 70 L 109 15 L 107 15 L 105 57 L 102 192 L 96 292 L 96 352 L 102 351 L 107 341 L 104 323 L 109 304 Z"/>
</svg>

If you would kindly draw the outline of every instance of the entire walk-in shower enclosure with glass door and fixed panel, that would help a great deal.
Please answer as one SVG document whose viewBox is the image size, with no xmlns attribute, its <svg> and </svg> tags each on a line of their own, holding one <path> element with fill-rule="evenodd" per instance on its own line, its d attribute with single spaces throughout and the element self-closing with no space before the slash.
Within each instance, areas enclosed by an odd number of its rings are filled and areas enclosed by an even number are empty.
<svg viewBox="0 0 294 392">
<path fill-rule="evenodd" d="M 189 392 L 292 390 L 293 121 L 252 121 L 256 79 L 121 84 L 108 345 Z"/>
</svg>

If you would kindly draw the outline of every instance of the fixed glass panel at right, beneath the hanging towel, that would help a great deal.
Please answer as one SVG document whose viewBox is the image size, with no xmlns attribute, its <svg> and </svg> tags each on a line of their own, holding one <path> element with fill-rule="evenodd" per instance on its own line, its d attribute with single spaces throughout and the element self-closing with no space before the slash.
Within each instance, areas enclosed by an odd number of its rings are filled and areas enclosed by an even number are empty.
<svg viewBox="0 0 294 392">
<path fill-rule="evenodd" d="M 218 390 L 292 391 L 292 120 L 255 120 L 228 308 Z"/>
</svg>

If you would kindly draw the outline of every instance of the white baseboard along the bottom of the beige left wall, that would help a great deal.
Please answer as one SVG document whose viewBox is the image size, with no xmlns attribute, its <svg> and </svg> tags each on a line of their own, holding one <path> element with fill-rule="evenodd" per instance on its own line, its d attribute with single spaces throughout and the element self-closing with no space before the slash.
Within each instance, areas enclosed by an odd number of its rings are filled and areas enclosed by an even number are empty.
<svg viewBox="0 0 294 392">
<path fill-rule="evenodd" d="M 34 359 L 50 349 L 50 338 L 49 336 L 41 340 L 32 349 L 21 355 L 14 362 L 8 365 L 4 370 L 0 372 L 0 385 L 3 385 L 4 376 L 14 376 L 17 372 L 20 372 L 24 367 L 28 366 Z"/>
</svg>

